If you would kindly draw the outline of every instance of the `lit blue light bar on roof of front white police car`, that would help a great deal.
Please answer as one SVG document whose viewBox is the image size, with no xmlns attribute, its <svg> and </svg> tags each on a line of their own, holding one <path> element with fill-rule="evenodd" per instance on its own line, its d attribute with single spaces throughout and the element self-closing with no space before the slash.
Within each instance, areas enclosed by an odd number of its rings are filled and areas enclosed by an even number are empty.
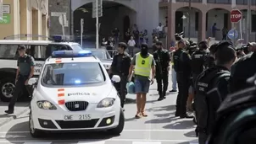
<svg viewBox="0 0 256 144">
<path fill-rule="evenodd" d="M 52 57 L 86 57 L 92 56 L 92 51 L 53 51 Z"/>
</svg>

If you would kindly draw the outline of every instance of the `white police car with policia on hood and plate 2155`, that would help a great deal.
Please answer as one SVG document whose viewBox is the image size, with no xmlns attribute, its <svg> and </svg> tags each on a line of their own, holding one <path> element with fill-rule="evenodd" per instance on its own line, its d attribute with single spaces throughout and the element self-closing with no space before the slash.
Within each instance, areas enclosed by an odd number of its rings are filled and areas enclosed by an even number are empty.
<svg viewBox="0 0 256 144">
<path fill-rule="evenodd" d="M 91 51 L 53 51 L 42 72 L 29 80 L 31 136 L 44 131 L 109 131 L 120 134 L 125 117 L 108 72 Z"/>
</svg>

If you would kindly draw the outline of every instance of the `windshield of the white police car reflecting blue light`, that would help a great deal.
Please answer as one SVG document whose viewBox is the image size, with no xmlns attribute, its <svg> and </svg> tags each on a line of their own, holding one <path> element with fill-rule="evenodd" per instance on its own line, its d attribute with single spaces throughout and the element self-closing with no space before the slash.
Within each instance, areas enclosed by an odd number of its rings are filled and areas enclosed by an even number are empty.
<svg viewBox="0 0 256 144">
<path fill-rule="evenodd" d="M 47 64 L 42 83 L 48 86 L 73 86 L 103 83 L 105 76 L 98 62 Z"/>
</svg>

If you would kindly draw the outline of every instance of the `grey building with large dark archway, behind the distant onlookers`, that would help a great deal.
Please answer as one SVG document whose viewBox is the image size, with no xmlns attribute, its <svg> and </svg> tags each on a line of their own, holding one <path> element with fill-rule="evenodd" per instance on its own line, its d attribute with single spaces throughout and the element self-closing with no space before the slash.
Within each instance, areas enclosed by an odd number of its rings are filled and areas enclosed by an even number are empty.
<svg viewBox="0 0 256 144">
<path fill-rule="evenodd" d="M 92 19 L 92 2 L 93 0 L 71 1 L 74 18 L 72 20 L 72 29 L 74 29 L 74 33 L 79 33 L 78 31 L 81 29 L 80 19 L 85 19 L 84 33 L 95 34 L 96 26 L 95 19 Z M 117 4 L 121 6 L 117 6 Z M 84 8 L 84 12 L 80 10 L 81 8 Z M 151 33 L 159 24 L 159 1 L 103 0 L 103 17 L 99 20 L 101 23 L 100 34 L 104 35 L 104 37 L 107 36 L 106 34 L 110 34 L 112 29 L 118 28 L 123 38 L 125 36 L 125 30 L 136 24 L 140 31 L 147 29 L 150 44 L 152 41 Z"/>
</svg>

